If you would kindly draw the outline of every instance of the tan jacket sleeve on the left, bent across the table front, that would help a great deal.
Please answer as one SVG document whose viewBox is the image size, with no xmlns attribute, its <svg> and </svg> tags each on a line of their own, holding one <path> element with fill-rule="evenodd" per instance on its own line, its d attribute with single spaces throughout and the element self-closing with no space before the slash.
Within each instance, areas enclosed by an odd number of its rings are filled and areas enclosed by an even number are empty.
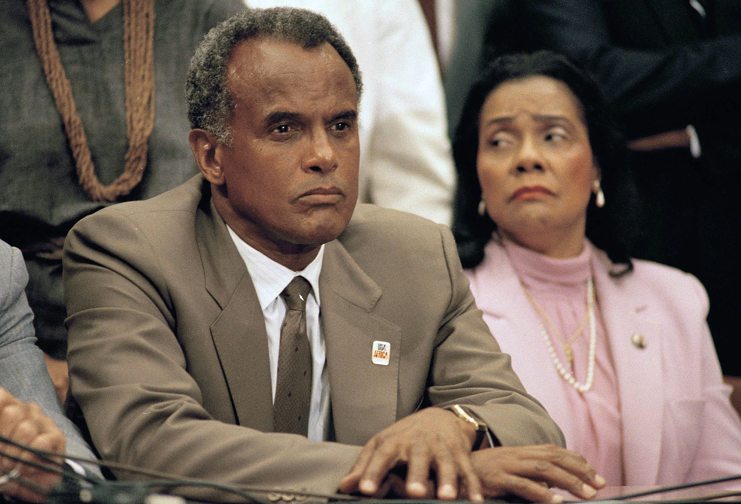
<svg viewBox="0 0 741 504">
<path fill-rule="evenodd" d="M 219 483 L 336 490 L 359 447 L 207 412 L 173 332 L 167 282 L 135 222 L 115 210 L 87 217 L 67 237 L 64 268 L 72 390 L 103 458 Z"/>
</svg>

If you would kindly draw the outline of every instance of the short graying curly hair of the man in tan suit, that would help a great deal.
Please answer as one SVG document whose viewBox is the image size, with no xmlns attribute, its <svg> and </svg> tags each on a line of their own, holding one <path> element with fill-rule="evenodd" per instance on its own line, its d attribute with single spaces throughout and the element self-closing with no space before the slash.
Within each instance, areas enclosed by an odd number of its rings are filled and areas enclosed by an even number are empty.
<svg viewBox="0 0 741 504">
<path fill-rule="evenodd" d="M 247 8 L 213 27 L 190 59 L 185 96 L 193 128 L 209 131 L 219 143 L 231 146 L 228 127 L 233 96 L 227 87 L 227 62 L 239 42 L 265 36 L 305 49 L 327 42 L 353 74 L 358 99 L 362 81 L 358 63 L 339 31 L 321 14 L 293 7 Z"/>
</svg>

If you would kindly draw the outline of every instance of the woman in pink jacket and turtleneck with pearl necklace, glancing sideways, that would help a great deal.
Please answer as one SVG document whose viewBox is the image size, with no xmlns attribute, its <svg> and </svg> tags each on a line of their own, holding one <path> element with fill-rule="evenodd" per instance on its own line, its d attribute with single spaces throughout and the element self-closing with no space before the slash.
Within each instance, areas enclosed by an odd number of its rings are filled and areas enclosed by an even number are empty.
<svg viewBox="0 0 741 504">
<path fill-rule="evenodd" d="M 608 485 L 740 474 L 708 298 L 694 276 L 628 256 L 613 131 L 595 84 L 561 56 L 485 71 L 453 146 L 471 290 L 525 388 Z"/>
</svg>

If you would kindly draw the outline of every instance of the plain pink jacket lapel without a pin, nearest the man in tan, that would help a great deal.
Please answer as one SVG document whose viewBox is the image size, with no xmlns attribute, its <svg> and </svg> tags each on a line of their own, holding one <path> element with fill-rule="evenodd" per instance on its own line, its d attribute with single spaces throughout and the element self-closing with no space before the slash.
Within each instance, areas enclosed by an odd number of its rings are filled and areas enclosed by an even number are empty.
<svg viewBox="0 0 741 504">
<path fill-rule="evenodd" d="M 511 355 L 512 367 L 528 394 L 538 399 L 551 416 L 568 418 L 562 378 L 543 342 L 536 322 L 539 316 L 525 296 L 507 253 L 492 239 L 484 257 L 482 265 L 476 268 L 473 288 L 494 338 L 501 339 L 502 351 Z M 566 440 L 573 440 L 571 424 L 561 427 Z"/>
</svg>

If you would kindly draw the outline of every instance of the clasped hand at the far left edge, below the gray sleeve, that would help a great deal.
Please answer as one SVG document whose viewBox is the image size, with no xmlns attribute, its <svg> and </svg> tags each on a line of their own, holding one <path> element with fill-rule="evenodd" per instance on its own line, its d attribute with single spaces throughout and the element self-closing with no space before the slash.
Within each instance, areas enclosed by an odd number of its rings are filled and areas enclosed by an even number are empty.
<svg viewBox="0 0 741 504">
<path fill-rule="evenodd" d="M 56 424 L 41 413 L 39 405 L 22 402 L 4 388 L 0 388 L 0 433 L 10 440 L 29 445 L 39 450 L 64 452 L 64 435 Z M 0 451 L 22 460 L 46 463 L 29 451 L 0 442 Z M 59 461 L 61 462 L 61 460 Z M 17 471 L 16 471 L 17 469 Z M 34 468 L 10 457 L 0 456 L 0 477 L 13 473 L 19 478 L 29 480 L 44 491 L 53 488 L 62 480 L 59 474 Z M 7 497 L 14 497 L 34 503 L 46 501 L 46 497 L 16 482 L 15 478 L 0 485 L 0 491 Z"/>
</svg>

